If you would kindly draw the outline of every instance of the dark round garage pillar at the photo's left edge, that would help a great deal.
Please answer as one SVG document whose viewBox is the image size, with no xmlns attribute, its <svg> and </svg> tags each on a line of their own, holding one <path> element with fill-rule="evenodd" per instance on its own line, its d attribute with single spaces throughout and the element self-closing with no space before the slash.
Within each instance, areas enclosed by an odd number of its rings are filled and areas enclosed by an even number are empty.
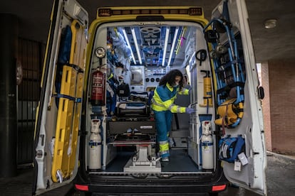
<svg viewBox="0 0 295 196">
<path fill-rule="evenodd" d="M 0 13 L 0 178 L 16 176 L 18 19 Z"/>
</svg>

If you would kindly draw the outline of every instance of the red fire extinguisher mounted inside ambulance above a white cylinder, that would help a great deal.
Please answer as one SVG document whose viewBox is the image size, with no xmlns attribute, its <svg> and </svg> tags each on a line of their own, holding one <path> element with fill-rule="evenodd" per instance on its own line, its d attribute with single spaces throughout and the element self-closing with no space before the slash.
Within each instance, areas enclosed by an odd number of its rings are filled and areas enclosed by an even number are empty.
<svg viewBox="0 0 295 196">
<path fill-rule="evenodd" d="M 91 104 L 105 105 L 105 73 L 99 69 L 92 73 Z"/>
</svg>

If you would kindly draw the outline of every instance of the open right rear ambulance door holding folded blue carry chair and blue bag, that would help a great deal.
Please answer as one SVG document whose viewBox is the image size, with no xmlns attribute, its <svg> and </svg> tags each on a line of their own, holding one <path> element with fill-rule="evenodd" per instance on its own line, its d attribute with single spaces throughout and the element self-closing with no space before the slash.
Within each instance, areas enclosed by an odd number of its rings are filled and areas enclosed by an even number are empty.
<svg viewBox="0 0 295 196">
<path fill-rule="evenodd" d="M 204 28 L 212 59 L 220 132 L 218 158 L 226 178 L 266 195 L 266 149 L 254 49 L 244 0 L 224 0 Z"/>
</svg>

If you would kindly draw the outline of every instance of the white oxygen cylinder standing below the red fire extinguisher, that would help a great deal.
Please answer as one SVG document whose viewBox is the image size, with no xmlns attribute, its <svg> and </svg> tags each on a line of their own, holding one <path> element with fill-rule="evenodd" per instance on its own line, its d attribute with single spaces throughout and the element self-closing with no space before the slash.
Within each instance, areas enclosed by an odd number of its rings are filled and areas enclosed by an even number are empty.
<svg viewBox="0 0 295 196">
<path fill-rule="evenodd" d="M 89 169 L 99 170 L 101 168 L 100 119 L 91 120 L 91 135 L 90 135 L 88 146 L 89 146 Z"/>
</svg>

